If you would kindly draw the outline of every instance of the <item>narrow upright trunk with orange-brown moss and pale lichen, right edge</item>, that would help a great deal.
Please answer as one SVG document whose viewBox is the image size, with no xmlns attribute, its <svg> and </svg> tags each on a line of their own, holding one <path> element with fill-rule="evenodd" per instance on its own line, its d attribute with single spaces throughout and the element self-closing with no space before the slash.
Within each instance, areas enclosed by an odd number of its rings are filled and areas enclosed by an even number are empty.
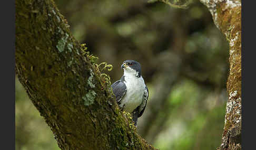
<svg viewBox="0 0 256 150">
<path fill-rule="evenodd" d="M 200 0 L 206 5 L 214 24 L 229 41 L 230 71 L 224 132 L 218 149 L 242 149 L 241 146 L 241 0 Z"/>
</svg>

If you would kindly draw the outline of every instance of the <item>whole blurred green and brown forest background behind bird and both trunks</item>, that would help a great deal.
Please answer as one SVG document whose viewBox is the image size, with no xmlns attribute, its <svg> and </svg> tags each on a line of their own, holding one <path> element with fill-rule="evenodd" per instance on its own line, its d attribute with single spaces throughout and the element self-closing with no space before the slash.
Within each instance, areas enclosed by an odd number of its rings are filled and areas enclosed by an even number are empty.
<svg viewBox="0 0 256 150">
<path fill-rule="evenodd" d="M 113 65 L 112 71 L 105 71 L 112 83 L 122 76 L 124 60 L 141 63 L 150 97 L 138 124 L 147 142 L 160 149 L 216 149 L 220 145 L 228 99 L 228 44 L 205 6 L 199 1 L 188 9 L 128 0 L 55 3 L 74 37 L 99 57 L 96 63 Z M 165 55 L 168 52 L 181 59 L 179 69 L 166 65 L 172 59 Z M 164 100 L 152 99 L 163 94 L 155 92 L 154 79 L 164 71 L 171 72 L 170 78 L 174 73 L 178 77 Z M 22 85 L 17 80 L 15 85 L 16 149 L 60 149 Z M 163 101 L 164 108 L 157 108 L 156 120 L 147 122 L 152 101 Z M 144 127 L 150 128 L 146 134 L 140 131 Z"/>
</svg>

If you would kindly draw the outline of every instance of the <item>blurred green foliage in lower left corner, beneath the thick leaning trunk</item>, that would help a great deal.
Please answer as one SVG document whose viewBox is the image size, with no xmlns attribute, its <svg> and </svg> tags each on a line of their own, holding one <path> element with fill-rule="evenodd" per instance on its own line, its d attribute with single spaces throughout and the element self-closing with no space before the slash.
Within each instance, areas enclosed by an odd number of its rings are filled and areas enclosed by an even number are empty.
<svg viewBox="0 0 256 150">
<path fill-rule="evenodd" d="M 15 149 L 60 149 L 50 127 L 15 80 Z"/>
</svg>

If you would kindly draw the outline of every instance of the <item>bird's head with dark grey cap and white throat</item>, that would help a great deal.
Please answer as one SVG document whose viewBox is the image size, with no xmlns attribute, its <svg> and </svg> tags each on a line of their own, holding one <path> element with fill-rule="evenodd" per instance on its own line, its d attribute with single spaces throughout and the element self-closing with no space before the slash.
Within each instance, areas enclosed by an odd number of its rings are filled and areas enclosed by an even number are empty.
<svg viewBox="0 0 256 150">
<path fill-rule="evenodd" d="M 132 74 L 136 77 L 141 77 L 141 65 L 135 60 L 125 60 L 121 68 L 124 70 L 124 74 Z"/>
</svg>

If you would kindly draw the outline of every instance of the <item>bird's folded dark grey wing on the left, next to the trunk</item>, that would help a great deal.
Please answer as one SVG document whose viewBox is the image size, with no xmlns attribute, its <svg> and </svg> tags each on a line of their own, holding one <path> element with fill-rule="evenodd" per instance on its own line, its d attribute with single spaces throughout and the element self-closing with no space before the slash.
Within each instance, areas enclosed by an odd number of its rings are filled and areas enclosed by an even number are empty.
<svg viewBox="0 0 256 150">
<path fill-rule="evenodd" d="M 123 77 L 120 80 L 115 81 L 111 87 L 113 89 L 113 93 L 115 94 L 116 102 L 119 104 L 122 97 L 126 93 L 126 85 L 124 84 Z"/>
</svg>

